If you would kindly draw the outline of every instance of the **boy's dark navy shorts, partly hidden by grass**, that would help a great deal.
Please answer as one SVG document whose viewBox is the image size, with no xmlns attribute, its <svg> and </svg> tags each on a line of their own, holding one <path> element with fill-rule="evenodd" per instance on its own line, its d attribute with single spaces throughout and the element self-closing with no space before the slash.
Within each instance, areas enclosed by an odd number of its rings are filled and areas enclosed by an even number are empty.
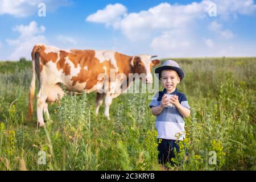
<svg viewBox="0 0 256 182">
<path fill-rule="evenodd" d="M 172 158 L 175 158 L 175 152 L 180 152 L 180 146 L 179 141 L 177 140 L 170 140 L 170 139 L 161 139 L 158 138 L 158 162 L 159 164 L 166 164 L 169 162 L 170 164 L 174 164 L 174 162 L 171 161 Z"/>
</svg>

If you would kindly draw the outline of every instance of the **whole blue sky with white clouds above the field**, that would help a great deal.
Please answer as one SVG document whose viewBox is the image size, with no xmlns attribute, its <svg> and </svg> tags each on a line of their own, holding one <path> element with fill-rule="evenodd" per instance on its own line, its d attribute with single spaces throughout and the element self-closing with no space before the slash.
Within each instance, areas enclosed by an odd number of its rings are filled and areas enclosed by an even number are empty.
<svg viewBox="0 0 256 182">
<path fill-rule="evenodd" d="M 0 60 L 35 44 L 164 57 L 256 56 L 253 0 L 0 0 Z"/>
</svg>

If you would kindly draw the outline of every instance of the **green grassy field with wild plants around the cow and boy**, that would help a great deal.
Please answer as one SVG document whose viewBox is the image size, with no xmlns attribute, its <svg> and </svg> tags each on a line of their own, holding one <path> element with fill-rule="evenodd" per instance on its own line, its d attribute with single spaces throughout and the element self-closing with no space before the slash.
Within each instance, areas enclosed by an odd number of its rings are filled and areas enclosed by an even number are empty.
<svg viewBox="0 0 256 182">
<path fill-rule="evenodd" d="M 168 169 L 256 170 L 256 58 L 175 60 L 185 73 L 177 88 L 192 109 L 185 119 L 188 158 L 181 147 Z M 37 129 L 36 109 L 34 122 L 26 121 L 31 73 L 31 61 L 0 62 L 0 170 L 162 169 L 148 94 L 115 98 L 110 121 L 104 105 L 96 118 L 96 93 L 65 96 L 49 105 L 53 122 Z"/>
</svg>

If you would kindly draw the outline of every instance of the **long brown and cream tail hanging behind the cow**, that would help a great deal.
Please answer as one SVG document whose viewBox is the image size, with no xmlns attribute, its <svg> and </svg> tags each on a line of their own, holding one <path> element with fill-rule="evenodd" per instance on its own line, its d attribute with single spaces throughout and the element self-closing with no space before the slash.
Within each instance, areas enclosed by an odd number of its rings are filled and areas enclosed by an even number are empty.
<svg viewBox="0 0 256 182">
<path fill-rule="evenodd" d="M 36 86 L 36 51 L 38 50 L 38 46 L 35 46 L 32 50 L 31 57 L 32 57 L 32 80 L 30 83 L 30 93 L 28 96 L 28 114 L 27 119 L 28 121 L 31 121 L 32 119 L 32 113 L 33 113 L 33 101 L 35 96 L 35 86 Z"/>
</svg>

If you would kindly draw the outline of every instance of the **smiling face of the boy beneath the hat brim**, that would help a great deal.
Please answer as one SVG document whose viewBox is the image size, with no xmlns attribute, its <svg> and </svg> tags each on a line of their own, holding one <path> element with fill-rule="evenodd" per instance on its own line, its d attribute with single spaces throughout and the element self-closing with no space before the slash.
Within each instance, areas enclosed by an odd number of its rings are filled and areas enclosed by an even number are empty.
<svg viewBox="0 0 256 182">
<path fill-rule="evenodd" d="M 174 92 L 177 84 L 180 83 L 180 77 L 174 70 L 163 70 L 161 72 L 161 82 L 167 93 Z"/>
</svg>

